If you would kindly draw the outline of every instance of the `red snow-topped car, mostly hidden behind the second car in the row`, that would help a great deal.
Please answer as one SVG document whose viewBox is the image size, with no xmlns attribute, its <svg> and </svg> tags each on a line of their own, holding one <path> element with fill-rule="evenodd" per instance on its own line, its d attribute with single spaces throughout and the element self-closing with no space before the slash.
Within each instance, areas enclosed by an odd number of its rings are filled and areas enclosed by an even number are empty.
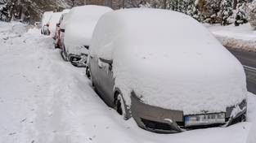
<svg viewBox="0 0 256 143">
<path fill-rule="evenodd" d="M 63 36 L 64 36 L 64 32 L 61 32 L 61 26 L 63 25 L 63 23 L 65 22 L 65 17 L 68 13 L 63 13 L 61 15 L 61 19 L 59 20 L 59 23 L 56 24 L 56 32 L 55 32 L 55 42 L 54 42 L 54 46 L 55 48 L 59 48 L 61 49 L 61 45 L 63 43 Z"/>
</svg>

